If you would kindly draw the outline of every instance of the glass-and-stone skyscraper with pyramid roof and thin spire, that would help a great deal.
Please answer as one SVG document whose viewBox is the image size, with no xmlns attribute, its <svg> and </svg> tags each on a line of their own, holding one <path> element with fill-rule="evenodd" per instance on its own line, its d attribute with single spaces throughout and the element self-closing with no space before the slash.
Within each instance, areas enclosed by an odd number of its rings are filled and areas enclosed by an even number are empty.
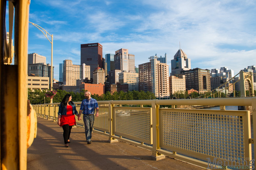
<svg viewBox="0 0 256 170">
<path fill-rule="evenodd" d="M 170 75 L 180 74 L 182 70 L 191 69 L 190 59 L 187 58 L 187 55 L 184 53 L 182 49 L 179 49 L 177 53 L 174 55 L 174 59 L 171 60 L 171 68 L 172 72 Z"/>
</svg>

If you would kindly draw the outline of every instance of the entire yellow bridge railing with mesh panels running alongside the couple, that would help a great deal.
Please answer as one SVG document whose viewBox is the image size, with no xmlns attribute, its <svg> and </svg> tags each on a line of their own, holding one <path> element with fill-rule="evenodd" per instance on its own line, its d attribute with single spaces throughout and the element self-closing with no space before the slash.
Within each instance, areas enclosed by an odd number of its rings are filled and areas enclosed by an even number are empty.
<svg viewBox="0 0 256 170">
<path fill-rule="evenodd" d="M 79 112 L 81 102 L 74 103 Z M 57 120 L 58 104 L 34 105 L 34 109 L 40 116 Z M 99 106 L 93 132 L 108 136 L 109 142 L 118 139 L 149 149 L 155 160 L 167 155 L 209 169 L 233 166 L 254 169 L 250 111 L 225 110 L 225 106 L 252 106 L 256 120 L 256 97 L 111 100 L 98 101 L 98 104 L 103 106 Z M 141 107 L 122 107 L 122 104 Z M 144 108 L 143 104 L 151 108 Z M 172 108 L 159 108 L 159 105 L 172 105 Z M 176 109 L 175 105 L 220 106 L 220 110 Z M 76 122 L 78 127 L 84 126 L 77 116 Z M 256 132 L 256 124 L 253 129 Z"/>
</svg>

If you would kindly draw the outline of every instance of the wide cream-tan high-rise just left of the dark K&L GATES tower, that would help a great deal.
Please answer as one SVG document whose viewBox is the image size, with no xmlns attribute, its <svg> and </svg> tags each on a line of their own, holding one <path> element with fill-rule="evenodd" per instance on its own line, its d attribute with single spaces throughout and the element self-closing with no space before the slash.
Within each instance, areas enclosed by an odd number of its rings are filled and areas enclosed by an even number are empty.
<svg viewBox="0 0 256 170">
<path fill-rule="evenodd" d="M 76 86 L 78 79 L 90 79 L 90 66 L 85 64 L 74 65 L 71 60 L 65 60 L 63 66 L 63 84 Z"/>
</svg>

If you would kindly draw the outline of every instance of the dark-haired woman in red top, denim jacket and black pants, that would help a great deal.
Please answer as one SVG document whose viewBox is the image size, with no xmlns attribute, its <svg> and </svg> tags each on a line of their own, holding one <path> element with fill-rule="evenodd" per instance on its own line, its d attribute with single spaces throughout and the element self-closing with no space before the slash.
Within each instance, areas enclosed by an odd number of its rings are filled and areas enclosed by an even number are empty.
<svg viewBox="0 0 256 170">
<path fill-rule="evenodd" d="M 72 126 L 76 125 L 75 114 L 78 116 L 76 105 L 71 99 L 71 95 L 66 94 L 60 103 L 58 111 L 58 125 L 63 128 L 63 137 L 66 148 L 69 147 L 68 143 L 70 143 L 69 136 Z"/>
</svg>

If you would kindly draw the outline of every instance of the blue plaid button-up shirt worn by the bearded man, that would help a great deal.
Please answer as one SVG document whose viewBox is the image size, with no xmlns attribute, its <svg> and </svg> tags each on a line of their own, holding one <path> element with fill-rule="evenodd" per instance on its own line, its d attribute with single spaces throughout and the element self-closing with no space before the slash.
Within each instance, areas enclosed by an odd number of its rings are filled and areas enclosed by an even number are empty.
<svg viewBox="0 0 256 170">
<path fill-rule="evenodd" d="M 83 114 L 88 115 L 88 114 L 94 114 L 95 108 L 98 108 L 97 100 L 90 98 L 90 100 L 83 99 L 80 110 L 83 111 L 82 112 Z"/>
</svg>

